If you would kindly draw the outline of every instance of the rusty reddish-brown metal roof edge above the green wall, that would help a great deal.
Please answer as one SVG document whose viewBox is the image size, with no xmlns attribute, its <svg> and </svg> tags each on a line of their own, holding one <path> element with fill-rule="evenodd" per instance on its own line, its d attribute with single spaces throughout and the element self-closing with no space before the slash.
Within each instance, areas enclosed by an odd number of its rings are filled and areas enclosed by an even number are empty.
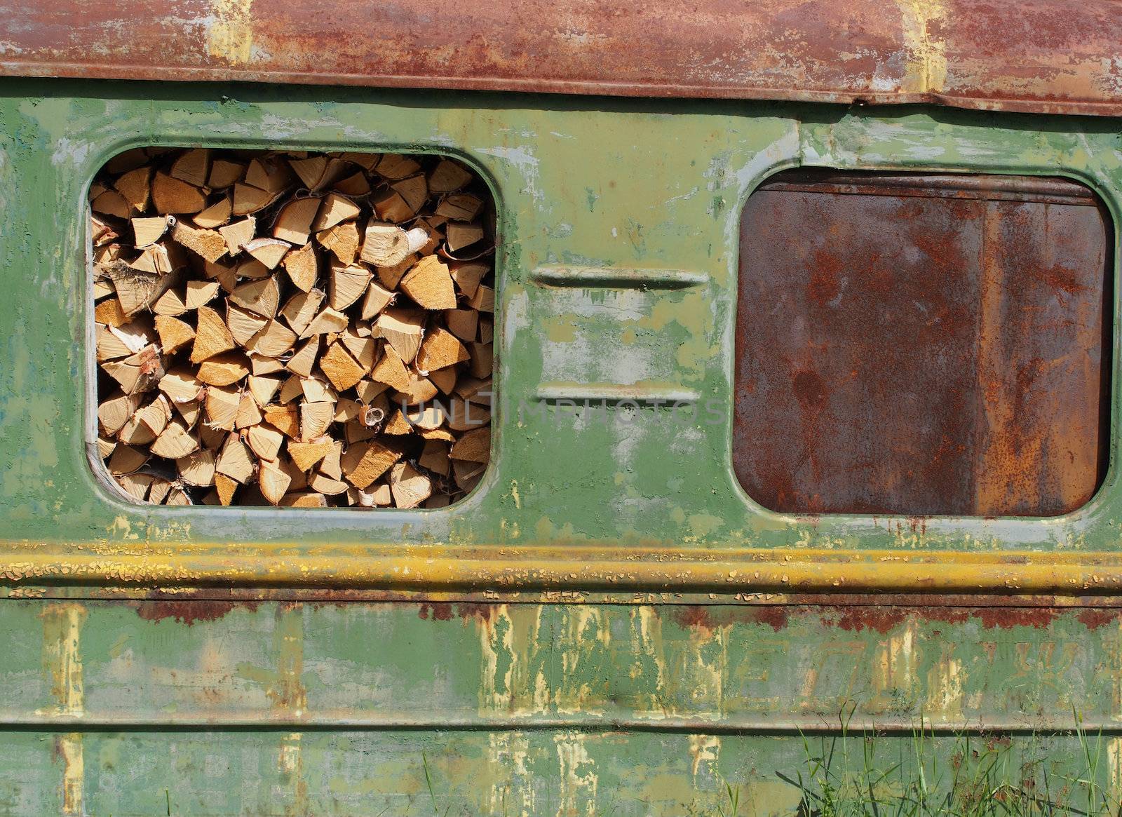
<svg viewBox="0 0 1122 817">
<path fill-rule="evenodd" d="M 1122 112 L 1113 0 L 0 2 L 0 73 Z"/>
</svg>

